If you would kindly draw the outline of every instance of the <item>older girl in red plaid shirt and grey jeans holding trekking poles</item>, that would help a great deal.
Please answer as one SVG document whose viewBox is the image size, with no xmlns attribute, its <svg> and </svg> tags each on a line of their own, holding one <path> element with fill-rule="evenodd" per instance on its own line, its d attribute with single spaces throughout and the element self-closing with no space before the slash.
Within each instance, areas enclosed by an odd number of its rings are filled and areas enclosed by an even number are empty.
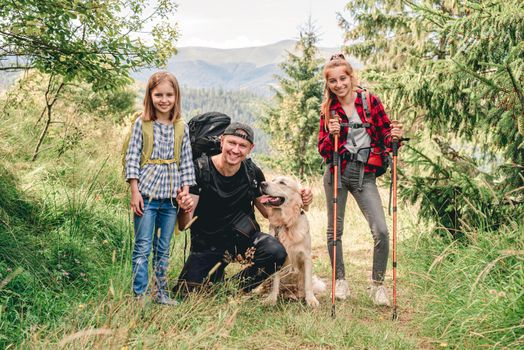
<svg viewBox="0 0 524 350">
<path fill-rule="evenodd" d="M 380 100 L 366 95 L 358 87 L 353 67 L 342 54 L 333 55 L 324 66 L 324 101 L 320 115 L 318 150 L 326 163 L 332 165 L 334 138 L 339 135 L 340 182 L 337 207 L 337 254 L 335 297 L 345 299 L 349 287 L 345 279 L 342 233 L 348 193 L 355 198 L 369 223 L 373 240 L 373 273 L 370 296 L 375 305 L 389 305 L 384 287 L 389 253 L 389 234 L 375 171 L 381 165 L 381 153 L 389 148 L 393 137 L 402 137 L 402 125 L 390 122 Z M 363 99 L 367 103 L 363 103 Z M 369 117 L 364 106 L 369 108 Z M 332 116 L 334 114 L 334 117 Z M 333 261 L 333 167 L 324 174 L 327 205 L 327 243 Z"/>
</svg>

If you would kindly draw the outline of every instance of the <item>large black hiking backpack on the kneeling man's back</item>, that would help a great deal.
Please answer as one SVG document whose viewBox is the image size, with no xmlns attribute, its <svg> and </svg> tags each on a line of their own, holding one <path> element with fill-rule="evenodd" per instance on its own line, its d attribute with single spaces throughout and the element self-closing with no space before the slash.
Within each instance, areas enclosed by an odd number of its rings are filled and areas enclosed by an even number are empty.
<svg viewBox="0 0 524 350">
<path fill-rule="evenodd" d="M 193 150 L 193 159 L 202 154 L 213 156 L 220 153 L 220 135 L 231 124 L 231 118 L 220 112 L 197 115 L 187 123 Z"/>
</svg>

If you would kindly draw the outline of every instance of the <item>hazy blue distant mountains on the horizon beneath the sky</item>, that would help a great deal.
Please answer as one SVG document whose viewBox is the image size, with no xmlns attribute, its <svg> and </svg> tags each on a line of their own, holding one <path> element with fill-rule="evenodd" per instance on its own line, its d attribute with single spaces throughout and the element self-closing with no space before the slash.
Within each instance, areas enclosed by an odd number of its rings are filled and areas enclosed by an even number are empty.
<svg viewBox="0 0 524 350">
<path fill-rule="evenodd" d="M 269 95 L 269 87 L 276 84 L 275 74 L 281 74 L 279 64 L 288 52 L 294 52 L 296 41 L 285 40 L 275 44 L 239 49 L 183 47 L 173 56 L 167 70 L 175 74 L 180 84 L 190 88 L 223 88 L 246 90 Z M 320 48 L 320 56 L 327 59 L 335 48 Z M 355 68 L 362 65 L 350 59 Z M 135 72 L 133 77 L 145 82 L 155 69 Z"/>
</svg>

